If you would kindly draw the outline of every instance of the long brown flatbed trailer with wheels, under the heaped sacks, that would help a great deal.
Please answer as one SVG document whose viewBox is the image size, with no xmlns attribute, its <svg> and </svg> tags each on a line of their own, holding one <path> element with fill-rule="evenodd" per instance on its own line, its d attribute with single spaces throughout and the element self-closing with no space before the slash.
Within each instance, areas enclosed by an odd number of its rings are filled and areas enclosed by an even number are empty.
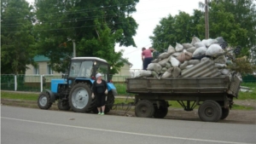
<svg viewBox="0 0 256 144">
<path fill-rule="evenodd" d="M 238 97 L 241 75 L 214 78 L 126 78 L 126 92 L 135 95 L 135 114 L 143 118 L 164 118 L 168 101 L 177 101 L 185 111 L 196 106 L 202 121 L 227 118 Z"/>
</svg>

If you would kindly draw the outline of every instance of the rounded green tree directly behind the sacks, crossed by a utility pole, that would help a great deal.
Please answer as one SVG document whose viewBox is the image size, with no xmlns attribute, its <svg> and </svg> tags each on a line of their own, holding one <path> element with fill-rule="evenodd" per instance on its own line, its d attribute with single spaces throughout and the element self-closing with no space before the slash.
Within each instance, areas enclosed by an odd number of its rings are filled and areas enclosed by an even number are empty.
<svg viewBox="0 0 256 144">
<path fill-rule="evenodd" d="M 209 9 L 209 26 L 210 37 L 224 37 L 230 46 L 244 46 L 247 40 L 247 29 L 242 27 L 237 21 L 234 14 L 227 12 L 224 4 L 215 3 L 212 1 Z M 160 20 L 160 26 L 154 29 L 154 37 L 150 37 L 156 49 L 167 49 L 163 47 L 163 41 L 175 46 L 175 43 L 190 43 L 193 36 L 204 39 L 205 37 L 205 22 L 204 14 L 200 10 L 194 10 L 194 14 L 189 16 L 184 12 L 172 17 Z M 255 35 L 254 35 L 255 36 Z M 249 42 L 247 42 L 249 43 Z M 160 45 L 160 47 L 159 47 Z M 242 49 L 242 55 L 248 54 L 248 49 Z"/>
</svg>

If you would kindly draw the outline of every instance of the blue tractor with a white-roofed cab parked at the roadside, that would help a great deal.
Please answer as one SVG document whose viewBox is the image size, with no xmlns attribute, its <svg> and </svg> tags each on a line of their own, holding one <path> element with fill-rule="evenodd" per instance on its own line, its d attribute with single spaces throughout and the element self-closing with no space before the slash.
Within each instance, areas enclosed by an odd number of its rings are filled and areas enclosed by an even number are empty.
<svg viewBox="0 0 256 144">
<path fill-rule="evenodd" d="M 106 60 L 97 57 L 72 58 L 67 75 L 62 79 L 52 79 L 51 89 L 45 89 L 38 96 L 38 107 L 49 109 L 55 101 L 58 108 L 73 112 L 97 112 L 96 98 L 91 98 L 91 86 L 96 73 L 102 73 L 102 79 L 108 82 L 108 95 L 105 113 L 113 107 L 117 90 L 109 76 L 110 66 Z"/>
</svg>

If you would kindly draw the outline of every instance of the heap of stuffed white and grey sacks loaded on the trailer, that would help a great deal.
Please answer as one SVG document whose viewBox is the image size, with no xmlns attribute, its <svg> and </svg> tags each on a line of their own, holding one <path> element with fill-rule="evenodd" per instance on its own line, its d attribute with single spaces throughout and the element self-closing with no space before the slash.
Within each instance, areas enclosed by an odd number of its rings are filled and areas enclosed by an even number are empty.
<svg viewBox="0 0 256 144">
<path fill-rule="evenodd" d="M 193 37 L 191 43 L 176 43 L 175 48 L 170 45 L 166 52 L 152 60 L 147 71 L 131 72 L 131 78 L 193 78 L 228 75 L 230 74 L 227 69 L 229 61 L 224 55 L 227 51 L 224 50 L 226 48 L 224 43 L 222 37 L 202 41 L 198 37 Z"/>
</svg>

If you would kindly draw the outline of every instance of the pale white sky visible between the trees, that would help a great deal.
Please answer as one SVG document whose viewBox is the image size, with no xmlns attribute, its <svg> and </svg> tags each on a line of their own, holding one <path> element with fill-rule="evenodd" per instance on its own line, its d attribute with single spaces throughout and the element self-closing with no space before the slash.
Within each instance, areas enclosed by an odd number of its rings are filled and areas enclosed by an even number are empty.
<svg viewBox="0 0 256 144">
<path fill-rule="evenodd" d="M 26 0 L 32 3 L 34 0 Z M 193 9 L 199 9 L 199 2 L 204 0 L 140 0 L 137 3 L 137 12 L 131 14 L 137 21 L 137 34 L 134 36 L 135 47 L 119 47 L 116 44 L 115 51 L 124 49 L 123 58 L 128 58 L 132 64 L 131 69 L 142 69 L 142 48 L 151 46 L 150 36 L 153 36 L 154 28 L 159 25 L 160 19 L 178 14 L 179 11 L 193 14 Z M 189 42 L 188 42 L 189 43 Z M 166 48 L 167 49 L 167 48 Z"/>
</svg>

